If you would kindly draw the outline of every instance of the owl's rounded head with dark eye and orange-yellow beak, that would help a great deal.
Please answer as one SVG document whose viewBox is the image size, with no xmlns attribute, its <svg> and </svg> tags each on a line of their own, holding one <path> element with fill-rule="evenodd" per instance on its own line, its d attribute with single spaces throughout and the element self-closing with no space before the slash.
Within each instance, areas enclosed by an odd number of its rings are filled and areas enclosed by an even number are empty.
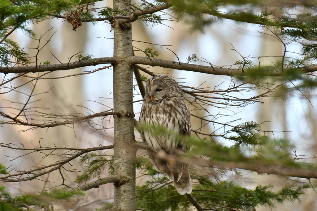
<svg viewBox="0 0 317 211">
<path fill-rule="evenodd" d="M 179 94 L 181 93 L 181 94 Z M 177 82 L 168 76 L 155 76 L 146 81 L 146 102 L 158 102 L 164 98 L 183 95 Z"/>
</svg>

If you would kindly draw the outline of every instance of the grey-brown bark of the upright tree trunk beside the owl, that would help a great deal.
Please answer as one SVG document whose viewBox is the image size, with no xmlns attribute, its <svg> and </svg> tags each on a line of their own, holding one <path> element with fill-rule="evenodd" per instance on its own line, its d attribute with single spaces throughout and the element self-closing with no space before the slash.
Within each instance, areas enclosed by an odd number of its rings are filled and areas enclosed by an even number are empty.
<svg viewBox="0 0 317 211">
<path fill-rule="evenodd" d="M 128 14 L 131 13 L 130 1 L 113 1 L 113 7 L 119 7 Z M 113 24 L 113 56 L 121 61 L 113 65 L 113 112 L 123 112 L 125 115 L 115 115 L 114 119 L 114 176 L 129 179 L 124 184 L 114 185 L 114 201 L 112 210 L 136 210 L 135 205 L 135 158 L 136 149 L 129 147 L 134 139 L 133 122 L 133 68 L 124 62 L 132 56 L 131 23 L 122 24 L 118 20 Z"/>
</svg>

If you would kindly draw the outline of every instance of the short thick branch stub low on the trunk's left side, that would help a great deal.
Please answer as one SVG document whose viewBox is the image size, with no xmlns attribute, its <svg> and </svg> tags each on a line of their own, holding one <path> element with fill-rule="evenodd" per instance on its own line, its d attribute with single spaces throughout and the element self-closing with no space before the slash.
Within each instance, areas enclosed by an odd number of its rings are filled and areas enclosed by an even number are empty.
<svg viewBox="0 0 317 211">
<path fill-rule="evenodd" d="M 79 186 L 78 188 L 74 188 L 74 189 L 87 191 L 87 190 L 90 190 L 93 188 L 99 188 L 100 185 L 104 185 L 107 183 L 116 183 L 116 184 L 122 185 L 128 181 L 129 181 L 128 178 L 122 177 L 122 176 L 104 177 L 104 178 L 100 178 L 94 182 L 87 183 L 85 185 Z"/>
</svg>

